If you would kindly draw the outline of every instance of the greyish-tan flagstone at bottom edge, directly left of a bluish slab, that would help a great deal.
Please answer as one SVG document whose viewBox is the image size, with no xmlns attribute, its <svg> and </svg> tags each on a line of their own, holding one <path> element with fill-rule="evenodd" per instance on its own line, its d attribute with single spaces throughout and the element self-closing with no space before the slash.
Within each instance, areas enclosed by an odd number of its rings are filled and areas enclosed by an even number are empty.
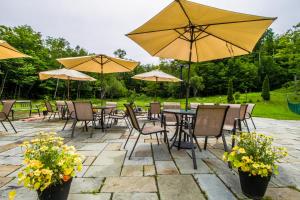
<svg viewBox="0 0 300 200">
<path fill-rule="evenodd" d="M 159 175 L 157 183 L 161 200 L 205 199 L 190 175 Z"/>
</svg>

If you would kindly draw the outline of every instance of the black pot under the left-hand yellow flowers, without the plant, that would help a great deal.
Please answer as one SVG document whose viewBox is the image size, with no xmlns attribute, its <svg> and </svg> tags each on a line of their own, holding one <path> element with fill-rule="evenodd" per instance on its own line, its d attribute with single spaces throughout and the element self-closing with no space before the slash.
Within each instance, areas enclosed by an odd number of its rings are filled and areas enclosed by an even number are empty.
<svg viewBox="0 0 300 200">
<path fill-rule="evenodd" d="M 72 179 L 63 184 L 52 185 L 45 190 L 37 191 L 39 200 L 67 200 Z"/>
</svg>

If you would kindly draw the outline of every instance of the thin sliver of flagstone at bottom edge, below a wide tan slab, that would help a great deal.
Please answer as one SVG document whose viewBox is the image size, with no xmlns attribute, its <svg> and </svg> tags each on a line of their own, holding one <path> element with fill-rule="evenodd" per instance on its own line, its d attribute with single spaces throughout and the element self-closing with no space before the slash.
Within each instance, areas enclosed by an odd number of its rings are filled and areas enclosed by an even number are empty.
<svg viewBox="0 0 300 200">
<path fill-rule="evenodd" d="M 156 193 L 114 193 L 112 200 L 158 200 Z"/>
</svg>

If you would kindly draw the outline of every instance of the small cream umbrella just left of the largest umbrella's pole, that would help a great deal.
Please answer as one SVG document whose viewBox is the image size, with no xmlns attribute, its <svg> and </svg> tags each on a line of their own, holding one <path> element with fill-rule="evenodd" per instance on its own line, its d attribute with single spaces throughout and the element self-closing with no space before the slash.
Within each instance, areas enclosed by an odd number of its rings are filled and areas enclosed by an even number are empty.
<svg viewBox="0 0 300 200">
<path fill-rule="evenodd" d="M 156 84 L 158 82 L 180 82 L 179 78 L 176 78 L 175 76 L 172 76 L 170 74 L 167 74 L 160 70 L 153 70 L 150 72 L 137 74 L 132 77 L 133 79 L 143 80 L 143 81 L 154 81 Z M 156 98 L 156 90 L 155 90 L 155 98 Z"/>
</svg>

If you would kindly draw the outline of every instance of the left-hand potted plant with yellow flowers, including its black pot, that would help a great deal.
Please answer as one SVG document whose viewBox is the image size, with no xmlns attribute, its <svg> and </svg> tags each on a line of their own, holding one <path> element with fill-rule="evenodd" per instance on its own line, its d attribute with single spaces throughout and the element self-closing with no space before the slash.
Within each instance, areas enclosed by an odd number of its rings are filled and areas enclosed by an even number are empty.
<svg viewBox="0 0 300 200">
<path fill-rule="evenodd" d="M 81 156 L 63 140 L 56 133 L 40 133 L 21 145 L 25 166 L 18 182 L 36 190 L 40 200 L 66 200 L 72 177 L 82 168 Z"/>
</svg>

